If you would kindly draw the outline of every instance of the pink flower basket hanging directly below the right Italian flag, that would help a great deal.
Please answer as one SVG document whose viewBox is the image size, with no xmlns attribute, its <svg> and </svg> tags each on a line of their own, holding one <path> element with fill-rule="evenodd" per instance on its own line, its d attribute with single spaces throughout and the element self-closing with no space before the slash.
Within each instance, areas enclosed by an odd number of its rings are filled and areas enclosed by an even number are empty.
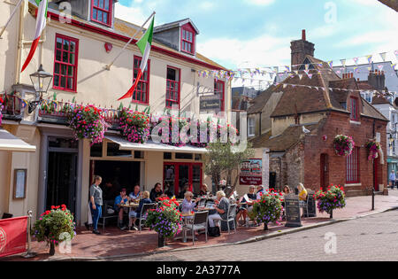
<svg viewBox="0 0 398 279">
<path fill-rule="evenodd" d="M 146 143 L 149 138 L 149 115 L 144 112 L 127 111 L 119 114 L 120 134 L 131 143 Z"/>
</svg>

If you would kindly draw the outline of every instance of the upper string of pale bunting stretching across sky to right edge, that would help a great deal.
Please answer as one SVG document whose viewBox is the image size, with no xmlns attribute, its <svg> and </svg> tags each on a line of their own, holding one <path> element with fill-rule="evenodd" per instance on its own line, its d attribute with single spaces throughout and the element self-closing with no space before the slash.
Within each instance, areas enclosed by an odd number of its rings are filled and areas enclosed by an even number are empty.
<svg viewBox="0 0 398 279">
<path fill-rule="evenodd" d="M 394 57 L 396 58 L 396 62 L 395 63 L 391 63 L 391 68 L 394 71 L 398 70 L 398 50 L 394 50 L 394 51 L 389 51 L 391 53 L 394 54 Z M 386 62 L 386 58 L 387 58 L 387 54 L 389 52 L 381 52 L 379 53 L 379 57 L 383 60 L 383 62 Z M 337 70 L 336 73 L 337 74 L 342 74 L 341 72 L 344 72 L 345 69 L 348 67 L 347 65 L 347 61 L 348 60 L 352 60 L 354 62 L 353 65 L 349 65 L 349 66 L 354 66 L 353 67 L 353 72 L 352 73 L 365 73 L 363 71 L 359 70 L 359 60 L 361 58 L 366 58 L 368 64 L 371 64 L 372 62 L 374 62 L 374 55 L 366 55 L 364 57 L 356 57 L 356 58 L 344 58 L 344 59 L 340 59 L 341 62 L 341 69 Z M 328 66 L 330 66 L 331 68 L 333 68 L 333 65 L 335 65 L 336 60 L 330 60 L 327 61 L 325 63 L 327 63 Z M 318 63 L 316 64 L 318 65 L 320 68 L 323 68 L 324 64 L 323 63 Z M 231 79 L 248 79 L 248 80 L 252 80 L 254 78 L 255 75 L 261 75 L 261 76 L 265 76 L 269 75 L 271 79 L 273 79 L 275 77 L 275 75 L 279 74 L 296 74 L 299 75 L 298 71 L 294 71 L 294 68 L 298 68 L 298 67 L 305 67 L 304 72 L 309 75 L 309 70 L 310 70 L 310 64 L 297 64 L 297 65 L 293 65 L 293 66 L 264 66 L 264 67 L 256 67 L 256 68 L 244 68 L 244 69 L 237 69 L 236 71 L 226 71 L 226 70 L 200 70 L 198 71 L 198 76 L 199 77 L 210 77 L 210 78 L 215 78 L 216 80 L 218 79 L 226 79 L 227 81 L 231 80 Z M 379 71 L 382 71 L 384 69 L 383 65 L 379 65 L 377 66 Z M 371 71 L 371 66 L 368 66 L 368 71 Z M 330 69 L 329 69 L 330 70 Z M 312 69 L 311 69 L 312 71 Z M 315 70 L 318 71 L 318 70 Z M 367 72 L 366 72 L 367 73 Z M 313 73 L 312 73 L 313 74 Z M 318 73 L 315 74 L 320 74 L 320 71 L 318 71 Z M 249 77 L 244 77 L 244 76 L 250 76 Z"/>
</svg>

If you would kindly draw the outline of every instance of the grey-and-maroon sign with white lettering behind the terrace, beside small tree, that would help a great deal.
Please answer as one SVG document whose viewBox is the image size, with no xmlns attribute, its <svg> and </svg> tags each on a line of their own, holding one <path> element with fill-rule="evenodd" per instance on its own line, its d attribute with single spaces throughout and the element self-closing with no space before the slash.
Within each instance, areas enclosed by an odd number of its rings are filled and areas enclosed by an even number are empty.
<svg viewBox="0 0 398 279">
<path fill-rule="evenodd" d="M 248 159 L 241 163 L 240 184 L 255 186 L 263 184 L 262 159 Z"/>
</svg>

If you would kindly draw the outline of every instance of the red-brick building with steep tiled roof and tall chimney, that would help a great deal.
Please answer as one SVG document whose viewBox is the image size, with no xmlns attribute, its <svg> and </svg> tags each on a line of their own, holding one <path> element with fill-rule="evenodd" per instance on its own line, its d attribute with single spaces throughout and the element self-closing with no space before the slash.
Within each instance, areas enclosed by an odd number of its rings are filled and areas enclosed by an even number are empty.
<svg viewBox="0 0 398 279">
<path fill-rule="evenodd" d="M 313 57 L 314 45 L 306 41 L 305 31 L 302 40 L 291 43 L 291 49 L 292 68 L 298 73 L 263 93 L 281 97 L 276 105 L 268 105 L 271 130 L 251 139 L 256 149 L 270 149 L 270 187 L 281 189 L 287 184 L 294 188 L 302 182 L 307 189 L 319 190 L 340 184 L 348 196 L 370 194 L 373 187 L 381 190 L 387 185 L 388 120 L 361 97 L 352 74 L 341 78 L 327 63 Z M 353 137 L 356 148 L 352 155 L 336 155 L 333 139 L 337 135 Z M 371 139 L 382 146 L 374 160 L 368 160 L 365 147 Z"/>
</svg>

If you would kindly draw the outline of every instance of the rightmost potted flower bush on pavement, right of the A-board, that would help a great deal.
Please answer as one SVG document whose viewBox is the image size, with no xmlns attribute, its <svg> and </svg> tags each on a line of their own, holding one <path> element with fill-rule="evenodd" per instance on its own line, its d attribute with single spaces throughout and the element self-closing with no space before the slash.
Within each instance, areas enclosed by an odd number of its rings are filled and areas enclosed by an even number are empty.
<svg viewBox="0 0 398 279">
<path fill-rule="evenodd" d="M 319 212 L 330 214 L 331 219 L 333 219 L 333 209 L 346 206 L 346 195 L 342 187 L 329 186 L 326 191 L 319 190 L 314 198 L 318 200 Z"/>
</svg>

